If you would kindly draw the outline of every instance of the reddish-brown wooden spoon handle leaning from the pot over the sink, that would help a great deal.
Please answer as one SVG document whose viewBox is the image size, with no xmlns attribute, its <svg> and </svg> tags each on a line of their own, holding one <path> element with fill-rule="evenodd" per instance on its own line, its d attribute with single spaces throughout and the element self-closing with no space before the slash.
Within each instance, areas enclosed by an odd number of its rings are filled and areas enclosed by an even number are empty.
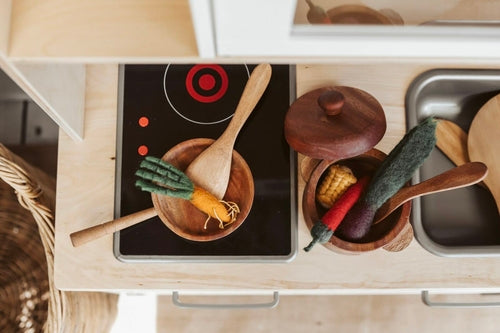
<svg viewBox="0 0 500 333">
<path fill-rule="evenodd" d="M 427 194 L 454 190 L 476 184 L 488 174 L 481 162 L 469 162 L 445 171 L 421 183 L 403 187 L 377 210 L 373 223 L 378 223 L 405 202 Z"/>
</svg>

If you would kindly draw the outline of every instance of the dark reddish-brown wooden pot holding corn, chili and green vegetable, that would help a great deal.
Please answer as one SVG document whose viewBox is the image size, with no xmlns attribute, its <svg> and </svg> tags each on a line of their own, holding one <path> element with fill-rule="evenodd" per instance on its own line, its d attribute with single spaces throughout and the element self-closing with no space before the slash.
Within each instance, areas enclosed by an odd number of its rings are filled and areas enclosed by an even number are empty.
<svg viewBox="0 0 500 333">
<path fill-rule="evenodd" d="M 304 219 L 309 230 L 326 213 L 326 209 L 316 201 L 316 187 L 321 183 L 323 173 L 325 173 L 330 165 L 345 165 L 351 168 L 356 177 L 361 178 L 364 175 L 373 174 L 386 156 L 385 153 L 373 148 L 353 158 L 334 162 L 321 161 L 311 173 L 302 200 Z M 410 209 L 411 201 L 399 207 L 381 222 L 372 225 L 369 233 L 359 241 L 347 241 L 334 234 L 330 241 L 323 245 L 332 251 L 346 254 L 372 251 L 385 246 L 390 250 L 388 245 L 394 242 L 409 227 Z"/>
</svg>

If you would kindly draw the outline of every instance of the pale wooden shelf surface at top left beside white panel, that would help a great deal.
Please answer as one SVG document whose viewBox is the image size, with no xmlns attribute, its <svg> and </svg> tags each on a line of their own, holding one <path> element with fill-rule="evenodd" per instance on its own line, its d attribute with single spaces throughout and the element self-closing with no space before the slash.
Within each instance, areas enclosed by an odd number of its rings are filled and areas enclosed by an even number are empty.
<svg viewBox="0 0 500 333">
<path fill-rule="evenodd" d="M 154 58 L 197 54 L 187 0 L 12 3 L 12 58 Z"/>
</svg>

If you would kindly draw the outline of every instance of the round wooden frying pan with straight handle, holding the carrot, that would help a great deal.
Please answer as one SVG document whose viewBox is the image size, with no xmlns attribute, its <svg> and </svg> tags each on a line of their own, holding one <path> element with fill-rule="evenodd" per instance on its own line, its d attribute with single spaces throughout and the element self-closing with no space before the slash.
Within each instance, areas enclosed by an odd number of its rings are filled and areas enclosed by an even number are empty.
<svg viewBox="0 0 500 333">
<path fill-rule="evenodd" d="M 201 151 L 209 147 L 213 142 L 212 139 L 203 138 L 183 141 L 172 147 L 164 155 L 164 159 L 180 170 L 184 170 Z M 203 225 L 206 215 L 198 211 L 191 203 L 178 198 L 152 194 L 153 208 L 73 232 L 70 234 L 71 242 L 74 247 L 78 247 L 105 235 L 141 223 L 156 215 L 159 215 L 168 228 L 186 239 L 206 241 L 224 237 L 243 223 L 250 212 L 254 197 L 254 184 L 250 167 L 236 150 L 232 152 L 230 172 L 231 176 L 226 198 L 229 201 L 238 203 L 240 213 L 236 221 L 224 229 L 218 228 L 216 223 L 210 223 L 207 229 L 203 229 L 199 225 Z M 189 218 L 186 218 L 186 215 Z"/>
</svg>

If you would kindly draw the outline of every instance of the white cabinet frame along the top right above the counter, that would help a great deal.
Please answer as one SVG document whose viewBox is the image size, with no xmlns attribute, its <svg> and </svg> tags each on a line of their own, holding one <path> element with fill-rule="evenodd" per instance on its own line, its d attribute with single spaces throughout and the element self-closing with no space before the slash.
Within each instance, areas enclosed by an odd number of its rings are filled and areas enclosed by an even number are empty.
<svg viewBox="0 0 500 333">
<path fill-rule="evenodd" d="M 212 2 L 216 51 L 221 57 L 500 56 L 500 27 L 495 25 L 294 24 L 296 3 L 292 1 Z"/>
</svg>

